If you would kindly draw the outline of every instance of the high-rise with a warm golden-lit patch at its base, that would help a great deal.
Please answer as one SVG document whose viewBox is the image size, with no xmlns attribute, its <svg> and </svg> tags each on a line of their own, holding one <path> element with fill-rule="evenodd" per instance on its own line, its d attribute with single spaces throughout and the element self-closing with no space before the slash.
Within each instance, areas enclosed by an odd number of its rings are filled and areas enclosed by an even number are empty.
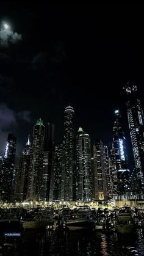
<svg viewBox="0 0 144 256">
<path fill-rule="evenodd" d="M 93 145 L 93 172 L 94 172 L 94 194 L 95 200 L 107 200 L 107 166 L 106 152 L 101 139 Z"/>
</svg>

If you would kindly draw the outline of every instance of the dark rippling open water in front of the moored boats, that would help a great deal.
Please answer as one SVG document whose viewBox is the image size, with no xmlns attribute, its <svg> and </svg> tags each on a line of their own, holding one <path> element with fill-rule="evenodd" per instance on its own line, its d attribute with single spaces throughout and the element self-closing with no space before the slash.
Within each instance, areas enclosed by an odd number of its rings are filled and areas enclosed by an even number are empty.
<svg viewBox="0 0 144 256">
<path fill-rule="evenodd" d="M 112 235 L 99 232 L 35 232 L 24 235 L 21 244 L 5 245 L 3 255 L 144 255 L 144 230 L 133 235 Z"/>
</svg>

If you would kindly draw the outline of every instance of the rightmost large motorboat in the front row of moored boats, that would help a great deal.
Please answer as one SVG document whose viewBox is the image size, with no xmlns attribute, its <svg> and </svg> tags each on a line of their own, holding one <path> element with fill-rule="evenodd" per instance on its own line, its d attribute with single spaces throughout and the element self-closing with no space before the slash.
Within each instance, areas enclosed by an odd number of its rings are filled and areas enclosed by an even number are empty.
<svg viewBox="0 0 144 256">
<path fill-rule="evenodd" d="M 134 220 L 131 211 L 122 208 L 117 216 L 117 221 L 114 226 L 118 233 L 126 234 L 134 232 Z"/>
</svg>

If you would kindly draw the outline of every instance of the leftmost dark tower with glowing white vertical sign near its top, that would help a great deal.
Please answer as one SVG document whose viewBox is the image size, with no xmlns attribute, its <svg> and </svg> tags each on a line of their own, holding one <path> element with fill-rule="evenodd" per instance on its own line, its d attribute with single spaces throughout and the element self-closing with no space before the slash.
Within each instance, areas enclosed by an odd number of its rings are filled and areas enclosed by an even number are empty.
<svg viewBox="0 0 144 256">
<path fill-rule="evenodd" d="M 11 200 L 14 192 L 16 137 L 9 133 L 1 167 L 1 199 Z"/>
</svg>

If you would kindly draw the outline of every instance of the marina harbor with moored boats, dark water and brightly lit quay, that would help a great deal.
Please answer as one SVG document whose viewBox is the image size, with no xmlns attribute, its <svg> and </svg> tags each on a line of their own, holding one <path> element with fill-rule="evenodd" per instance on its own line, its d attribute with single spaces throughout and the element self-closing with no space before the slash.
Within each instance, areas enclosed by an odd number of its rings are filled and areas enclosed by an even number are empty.
<svg viewBox="0 0 144 256">
<path fill-rule="evenodd" d="M 144 253 L 143 207 L 1 207 L 0 230 L 2 256 Z"/>
</svg>

